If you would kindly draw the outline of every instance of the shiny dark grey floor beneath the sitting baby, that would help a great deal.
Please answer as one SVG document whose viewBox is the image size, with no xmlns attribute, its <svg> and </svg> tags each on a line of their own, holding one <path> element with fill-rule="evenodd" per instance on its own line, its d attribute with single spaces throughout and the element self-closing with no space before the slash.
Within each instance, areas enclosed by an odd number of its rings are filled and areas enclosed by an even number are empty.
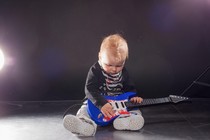
<svg viewBox="0 0 210 140">
<path fill-rule="evenodd" d="M 20 106 L 0 102 L 1 140 L 210 140 L 210 100 L 144 107 L 142 130 L 98 127 L 94 137 L 76 137 L 62 125 L 63 113 L 78 101 L 15 103 Z M 70 113 L 78 108 L 71 108 Z"/>
</svg>

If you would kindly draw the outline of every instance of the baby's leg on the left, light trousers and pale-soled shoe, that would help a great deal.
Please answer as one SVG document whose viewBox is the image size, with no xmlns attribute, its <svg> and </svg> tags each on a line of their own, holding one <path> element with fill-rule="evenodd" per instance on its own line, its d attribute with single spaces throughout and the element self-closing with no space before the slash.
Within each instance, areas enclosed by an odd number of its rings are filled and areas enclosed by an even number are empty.
<svg viewBox="0 0 210 140">
<path fill-rule="evenodd" d="M 94 136 L 97 125 L 87 113 L 87 106 L 82 105 L 77 115 L 66 115 L 63 119 L 64 127 L 79 136 Z"/>
</svg>

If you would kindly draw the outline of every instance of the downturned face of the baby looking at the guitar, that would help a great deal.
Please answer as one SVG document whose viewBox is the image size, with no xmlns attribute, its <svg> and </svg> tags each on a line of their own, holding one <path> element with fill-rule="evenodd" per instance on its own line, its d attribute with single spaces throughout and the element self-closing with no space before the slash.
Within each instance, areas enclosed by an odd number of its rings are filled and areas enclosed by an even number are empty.
<svg viewBox="0 0 210 140">
<path fill-rule="evenodd" d="M 116 74 L 122 71 L 125 64 L 125 60 L 116 61 L 115 57 L 108 56 L 106 53 L 99 55 L 99 61 L 103 70 L 109 74 Z"/>
</svg>

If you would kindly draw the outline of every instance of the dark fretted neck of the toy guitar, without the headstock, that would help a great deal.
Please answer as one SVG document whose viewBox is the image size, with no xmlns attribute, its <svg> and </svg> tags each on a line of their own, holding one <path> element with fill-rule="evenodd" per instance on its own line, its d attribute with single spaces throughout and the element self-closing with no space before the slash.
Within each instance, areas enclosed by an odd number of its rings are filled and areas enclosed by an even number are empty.
<svg viewBox="0 0 210 140">
<path fill-rule="evenodd" d="M 143 99 L 141 103 L 125 102 L 125 105 L 127 108 L 132 108 L 132 107 L 141 107 L 147 105 L 163 104 L 169 102 L 171 102 L 170 98 L 164 97 L 164 98 L 155 98 L 155 99 Z"/>
</svg>

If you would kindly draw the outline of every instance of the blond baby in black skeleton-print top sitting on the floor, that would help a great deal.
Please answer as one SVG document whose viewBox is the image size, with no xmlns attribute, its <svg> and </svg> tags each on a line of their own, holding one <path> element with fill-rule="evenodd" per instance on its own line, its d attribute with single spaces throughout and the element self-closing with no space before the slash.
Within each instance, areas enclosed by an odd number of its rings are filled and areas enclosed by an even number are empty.
<svg viewBox="0 0 210 140">
<path fill-rule="evenodd" d="M 119 34 L 106 37 L 101 44 L 96 62 L 89 70 L 86 84 L 86 99 L 98 107 L 105 117 L 114 116 L 112 106 L 104 98 L 104 95 L 117 96 L 125 92 L 136 92 L 128 72 L 124 67 L 128 58 L 128 46 L 126 40 Z M 140 103 L 141 97 L 133 97 L 132 102 Z M 131 115 L 119 115 L 113 126 L 116 130 L 140 130 L 144 125 L 144 119 L 139 109 L 130 111 Z M 66 115 L 63 120 L 64 127 L 79 136 L 94 136 L 97 125 L 87 113 L 87 105 L 84 104 L 78 110 L 77 115 Z"/>
</svg>

